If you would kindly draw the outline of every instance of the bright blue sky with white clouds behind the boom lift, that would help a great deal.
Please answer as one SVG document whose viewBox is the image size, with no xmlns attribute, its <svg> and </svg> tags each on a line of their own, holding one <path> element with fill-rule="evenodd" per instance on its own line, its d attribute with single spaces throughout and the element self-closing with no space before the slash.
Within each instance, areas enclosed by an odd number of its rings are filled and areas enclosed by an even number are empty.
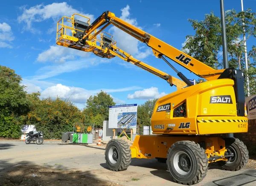
<svg viewBox="0 0 256 186">
<path fill-rule="evenodd" d="M 225 10 L 241 10 L 240 0 L 224 0 Z M 256 7 L 255 0 L 244 0 L 244 9 Z M 102 59 L 93 54 L 55 44 L 56 23 L 62 16 L 81 13 L 94 20 L 103 11 L 132 23 L 149 34 L 180 49 L 186 35 L 194 34 L 189 18 L 203 20 L 214 11 L 220 16 L 219 1 L 205 0 L 26 0 L 3 1 L 0 11 L 0 65 L 23 78 L 27 92 L 41 92 L 41 98 L 70 99 L 83 108 L 90 95 L 104 90 L 117 104 L 141 104 L 148 99 L 172 93 L 163 79 L 121 59 Z M 136 39 L 109 27 L 117 46 L 134 57 L 176 76 L 161 59 Z M 249 43 L 250 44 L 250 43 Z M 197 76 L 178 65 L 190 79 Z"/>
</svg>

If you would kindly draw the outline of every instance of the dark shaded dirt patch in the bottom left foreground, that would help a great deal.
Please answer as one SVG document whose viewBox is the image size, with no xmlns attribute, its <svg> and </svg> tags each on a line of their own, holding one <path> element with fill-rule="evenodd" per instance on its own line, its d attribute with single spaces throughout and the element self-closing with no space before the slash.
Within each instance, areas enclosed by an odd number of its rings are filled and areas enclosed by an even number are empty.
<svg viewBox="0 0 256 186">
<path fill-rule="evenodd" d="M 0 186 L 116 186 L 99 180 L 90 171 L 52 169 L 38 165 L 20 165 L 0 176 Z M 120 185 L 119 185 L 120 186 Z"/>
</svg>

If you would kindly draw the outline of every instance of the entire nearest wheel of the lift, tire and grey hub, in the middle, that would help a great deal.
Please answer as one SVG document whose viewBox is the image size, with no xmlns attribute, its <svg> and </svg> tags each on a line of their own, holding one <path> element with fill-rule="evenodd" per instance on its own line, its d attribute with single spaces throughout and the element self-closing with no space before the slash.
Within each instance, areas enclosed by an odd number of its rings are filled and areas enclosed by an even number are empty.
<svg viewBox="0 0 256 186">
<path fill-rule="evenodd" d="M 194 141 L 177 141 L 167 154 L 167 168 L 175 182 L 192 185 L 206 176 L 207 155 Z"/>
</svg>

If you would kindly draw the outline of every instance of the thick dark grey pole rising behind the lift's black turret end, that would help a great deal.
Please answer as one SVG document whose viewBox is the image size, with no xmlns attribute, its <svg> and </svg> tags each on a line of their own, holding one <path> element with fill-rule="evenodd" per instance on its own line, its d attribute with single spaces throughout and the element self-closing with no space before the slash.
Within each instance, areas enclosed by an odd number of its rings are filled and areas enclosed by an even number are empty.
<svg viewBox="0 0 256 186">
<path fill-rule="evenodd" d="M 229 68 L 228 59 L 227 59 L 227 35 L 226 35 L 226 21 L 225 21 L 225 14 L 224 14 L 224 2 L 221 2 L 221 29 L 222 29 L 222 48 L 223 48 L 223 65 L 224 68 Z M 233 133 L 228 133 L 229 138 L 233 138 Z"/>
</svg>

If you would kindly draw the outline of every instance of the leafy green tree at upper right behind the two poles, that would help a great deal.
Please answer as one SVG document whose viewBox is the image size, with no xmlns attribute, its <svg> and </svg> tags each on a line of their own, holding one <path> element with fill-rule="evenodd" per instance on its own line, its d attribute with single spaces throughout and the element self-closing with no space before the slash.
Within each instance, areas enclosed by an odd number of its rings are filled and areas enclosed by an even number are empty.
<svg viewBox="0 0 256 186">
<path fill-rule="evenodd" d="M 229 66 L 248 74 L 251 94 L 256 93 L 256 46 L 250 48 L 247 46 L 249 66 L 247 72 L 242 38 L 243 34 L 246 35 L 246 41 L 250 37 L 256 37 L 255 14 L 250 8 L 239 13 L 235 10 L 228 10 L 225 13 Z M 220 18 L 211 12 L 206 14 L 202 21 L 189 19 L 189 22 L 192 23 L 195 35 L 186 36 L 186 45 L 182 50 L 212 68 L 223 68 Z M 245 90 L 247 91 L 246 88 Z M 247 92 L 245 94 L 247 95 Z"/>
</svg>

